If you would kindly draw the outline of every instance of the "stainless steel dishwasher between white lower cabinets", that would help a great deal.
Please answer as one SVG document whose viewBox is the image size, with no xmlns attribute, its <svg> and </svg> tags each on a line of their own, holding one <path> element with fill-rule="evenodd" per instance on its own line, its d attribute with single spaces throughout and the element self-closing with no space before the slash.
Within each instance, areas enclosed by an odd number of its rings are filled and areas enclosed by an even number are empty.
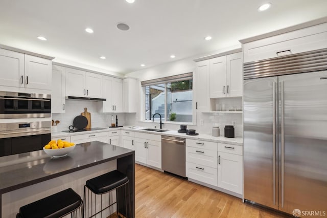
<svg viewBox="0 0 327 218">
<path fill-rule="evenodd" d="M 161 136 L 161 167 L 165 172 L 186 177 L 184 138 Z"/>
</svg>

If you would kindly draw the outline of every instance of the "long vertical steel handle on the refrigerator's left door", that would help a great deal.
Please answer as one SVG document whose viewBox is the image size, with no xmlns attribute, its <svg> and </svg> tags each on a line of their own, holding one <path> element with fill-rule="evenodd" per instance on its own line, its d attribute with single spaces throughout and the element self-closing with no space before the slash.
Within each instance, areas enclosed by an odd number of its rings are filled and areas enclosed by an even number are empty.
<svg viewBox="0 0 327 218">
<path fill-rule="evenodd" d="M 273 204 L 276 205 L 276 82 L 272 82 L 272 177 Z"/>
</svg>

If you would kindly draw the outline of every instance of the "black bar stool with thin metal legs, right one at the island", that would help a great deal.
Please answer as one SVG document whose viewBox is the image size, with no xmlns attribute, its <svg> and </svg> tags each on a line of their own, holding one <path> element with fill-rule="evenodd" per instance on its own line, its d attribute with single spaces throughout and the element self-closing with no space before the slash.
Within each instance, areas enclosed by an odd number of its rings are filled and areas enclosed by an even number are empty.
<svg viewBox="0 0 327 218">
<path fill-rule="evenodd" d="M 102 217 L 102 211 L 105 209 L 109 208 L 109 215 L 111 215 L 111 209 L 110 207 L 114 204 L 117 204 L 117 214 L 118 216 L 122 215 L 118 212 L 119 210 L 119 196 L 116 192 L 116 202 L 113 202 L 110 204 L 110 192 L 113 190 L 116 190 L 118 188 L 123 188 L 124 186 L 124 202 L 125 202 L 125 215 L 124 217 L 131 216 L 131 205 L 130 205 L 130 192 L 129 192 L 129 185 L 128 185 L 129 179 L 128 177 L 118 171 L 118 170 L 113 170 L 111 172 L 107 172 L 101 176 L 89 179 L 86 181 L 86 185 L 84 185 L 84 205 L 83 205 L 83 214 L 84 217 L 94 217 L 97 214 L 101 213 Z M 86 189 L 87 189 L 87 199 L 86 199 Z M 128 189 L 128 190 L 126 190 Z M 91 192 L 91 193 L 90 193 Z M 106 206 L 105 208 L 102 208 L 102 195 L 108 193 L 109 197 L 109 205 Z M 128 201 L 126 201 L 128 193 Z M 91 196 L 90 196 L 91 195 Z M 93 205 L 93 195 L 95 196 L 95 205 Z M 97 212 L 97 195 L 101 195 L 101 210 Z M 91 197 L 91 208 L 89 207 L 89 197 Z M 86 204 L 87 202 L 87 204 Z M 127 212 L 127 205 L 129 205 L 129 211 Z M 95 208 L 95 212 L 93 209 Z M 86 213 L 87 209 L 87 213 Z M 89 212 L 91 212 L 89 216 Z M 129 215 L 128 215 L 128 214 Z M 98 216 L 97 216 L 98 217 Z"/>
</svg>

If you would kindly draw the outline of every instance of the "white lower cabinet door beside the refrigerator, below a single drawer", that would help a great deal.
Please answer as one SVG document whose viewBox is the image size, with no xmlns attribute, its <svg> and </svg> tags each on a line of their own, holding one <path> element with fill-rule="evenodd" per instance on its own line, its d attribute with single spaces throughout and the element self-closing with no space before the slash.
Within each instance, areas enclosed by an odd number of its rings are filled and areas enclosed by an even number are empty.
<svg viewBox="0 0 327 218">
<path fill-rule="evenodd" d="M 242 194 L 242 156 L 218 152 L 218 187 Z"/>
</svg>

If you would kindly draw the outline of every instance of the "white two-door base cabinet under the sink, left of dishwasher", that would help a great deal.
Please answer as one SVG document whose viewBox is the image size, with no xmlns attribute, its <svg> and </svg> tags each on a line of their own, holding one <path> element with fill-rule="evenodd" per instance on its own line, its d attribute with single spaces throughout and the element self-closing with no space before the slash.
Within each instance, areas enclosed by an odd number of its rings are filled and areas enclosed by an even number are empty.
<svg viewBox="0 0 327 218">
<path fill-rule="evenodd" d="M 161 169 L 161 136 L 134 133 L 135 161 Z"/>
</svg>

